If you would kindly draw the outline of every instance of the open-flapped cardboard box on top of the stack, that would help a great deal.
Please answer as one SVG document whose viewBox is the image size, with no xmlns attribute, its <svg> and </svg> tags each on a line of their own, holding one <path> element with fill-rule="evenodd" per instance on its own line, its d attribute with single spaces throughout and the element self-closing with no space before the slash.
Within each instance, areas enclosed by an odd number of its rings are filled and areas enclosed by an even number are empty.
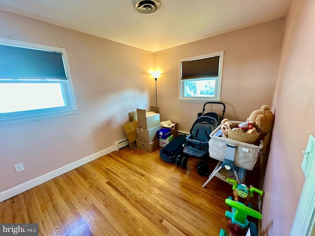
<svg viewBox="0 0 315 236">
<path fill-rule="evenodd" d="M 159 108 L 150 107 L 150 112 L 143 109 L 137 109 L 138 127 L 151 129 L 159 125 Z"/>
</svg>

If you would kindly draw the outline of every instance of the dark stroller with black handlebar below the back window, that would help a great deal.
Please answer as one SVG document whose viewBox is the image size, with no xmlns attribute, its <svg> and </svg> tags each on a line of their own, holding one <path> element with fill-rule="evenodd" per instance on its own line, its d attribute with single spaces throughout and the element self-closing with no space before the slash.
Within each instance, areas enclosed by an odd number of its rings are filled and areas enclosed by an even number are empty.
<svg viewBox="0 0 315 236">
<path fill-rule="evenodd" d="M 223 106 L 222 116 L 215 112 L 205 113 L 205 106 L 207 104 L 221 104 Z M 186 168 L 188 163 L 188 156 L 195 158 L 209 157 L 208 148 L 210 134 L 221 123 L 225 113 L 225 104 L 222 102 L 206 102 L 203 105 L 202 113 L 198 113 L 198 118 L 193 122 L 189 131 L 189 136 L 186 137 L 183 155 L 178 155 L 176 158 L 176 165 Z M 205 170 L 206 169 L 206 170 Z M 197 164 L 197 172 L 201 176 L 208 176 L 209 168 L 206 161 Z"/>
</svg>

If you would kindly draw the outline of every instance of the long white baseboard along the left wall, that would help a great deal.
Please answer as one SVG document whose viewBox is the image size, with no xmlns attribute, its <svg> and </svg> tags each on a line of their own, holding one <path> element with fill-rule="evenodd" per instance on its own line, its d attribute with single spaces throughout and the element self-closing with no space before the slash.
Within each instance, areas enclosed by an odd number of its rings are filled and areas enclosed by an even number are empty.
<svg viewBox="0 0 315 236">
<path fill-rule="evenodd" d="M 36 177 L 36 178 L 33 178 L 29 181 L 26 181 L 24 183 L 21 183 L 17 186 L 14 186 L 10 189 L 7 189 L 7 190 L 4 190 L 2 192 L 0 192 L 0 202 L 4 201 L 4 200 L 7 200 L 9 198 L 12 198 L 20 193 L 23 193 L 24 191 L 27 191 L 41 183 L 44 183 L 50 179 L 53 179 L 55 177 L 58 177 L 58 176 L 61 176 L 63 175 L 64 173 L 66 172 L 69 172 L 69 171 L 72 171 L 73 169 L 77 168 L 77 167 L 80 167 L 84 164 L 87 164 L 91 161 L 94 161 L 95 159 L 99 158 L 99 157 L 102 157 L 112 151 L 115 151 L 115 147 L 112 146 L 110 148 L 105 148 L 101 151 L 98 151 L 90 156 L 87 156 L 87 157 L 84 157 L 80 160 L 77 160 L 75 162 L 72 162 L 68 165 L 65 165 L 61 168 L 58 168 L 54 171 L 51 171 L 47 174 L 44 174 L 42 176 L 39 176 L 39 177 Z"/>
</svg>

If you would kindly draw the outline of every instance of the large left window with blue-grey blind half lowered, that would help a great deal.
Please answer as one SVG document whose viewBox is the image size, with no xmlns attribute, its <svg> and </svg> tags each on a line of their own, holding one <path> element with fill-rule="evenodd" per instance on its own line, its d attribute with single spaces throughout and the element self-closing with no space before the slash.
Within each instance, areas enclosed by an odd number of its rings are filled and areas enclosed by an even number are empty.
<svg viewBox="0 0 315 236">
<path fill-rule="evenodd" d="M 0 38 L 0 125 L 77 113 L 63 48 Z"/>
</svg>

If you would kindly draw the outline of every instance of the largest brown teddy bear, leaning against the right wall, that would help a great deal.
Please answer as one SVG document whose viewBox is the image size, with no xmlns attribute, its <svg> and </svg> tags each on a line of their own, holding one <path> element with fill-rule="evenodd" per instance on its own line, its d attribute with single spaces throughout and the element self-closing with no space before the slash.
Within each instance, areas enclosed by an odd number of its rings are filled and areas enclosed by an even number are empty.
<svg viewBox="0 0 315 236">
<path fill-rule="evenodd" d="M 265 137 L 272 130 L 274 117 L 275 116 L 270 111 L 269 107 L 263 105 L 259 110 L 253 111 L 246 121 L 252 121 L 253 126 L 261 132 L 261 137 Z"/>
</svg>

